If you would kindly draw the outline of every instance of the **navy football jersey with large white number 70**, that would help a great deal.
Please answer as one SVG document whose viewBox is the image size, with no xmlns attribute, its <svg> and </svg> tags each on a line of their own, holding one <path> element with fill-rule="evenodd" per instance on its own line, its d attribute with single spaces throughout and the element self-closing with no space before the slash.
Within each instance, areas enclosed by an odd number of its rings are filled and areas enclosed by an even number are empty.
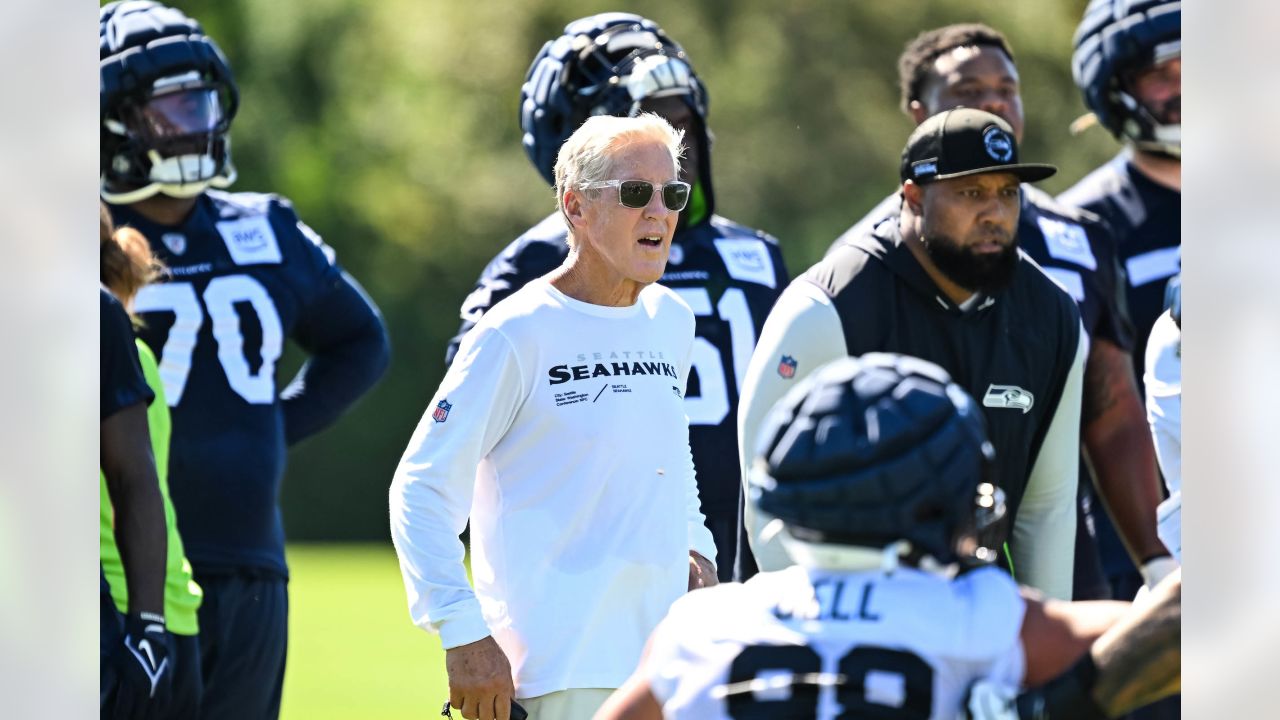
<svg viewBox="0 0 1280 720">
<path fill-rule="evenodd" d="M 177 227 L 111 206 L 168 268 L 136 300 L 172 407 L 169 488 L 197 573 L 287 577 L 285 448 L 367 391 L 389 348 L 376 307 L 274 195 L 210 191 Z M 284 338 L 311 356 L 282 396 Z"/>
</svg>

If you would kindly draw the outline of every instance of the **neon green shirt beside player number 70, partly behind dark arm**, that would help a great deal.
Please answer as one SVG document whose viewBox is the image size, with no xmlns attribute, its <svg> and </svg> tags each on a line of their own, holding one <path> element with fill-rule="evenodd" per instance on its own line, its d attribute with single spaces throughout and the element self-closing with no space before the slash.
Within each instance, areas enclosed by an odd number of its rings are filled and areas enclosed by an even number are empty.
<svg viewBox="0 0 1280 720">
<path fill-rule="evenodd" d="M 160 478 L 160 495 L 164 497 L 164 523 L 169 530 L 169 561 L 165 570 L 164 584 L 164 616 L 169 632 L 179 635 L 195 635 L 198 630 L 196 610 L 205 592 L 200 589 L 196 580 L 191 578 L 191 564 L 187 562 L 182 550 L 182 538 L 178 537 L 178 523 L 174 519 L 173 502 L 169 501 L 169 405 L 164 397 L 164 383 L 160 382 L 160 370 L 156 368 L 156 357 L 140 340 L 138 360 L 142 363 L 142 375 L 151 386 L 156 398 L 147 407 L 147 425 L 151 429 L 151 452 L 156 459 L 156 475 Z M 99 471 L 99 495 L 101 497 L 101 539 L 99 552 L 102 559 L 102 571 L 106 582 L 111 585 L 111 600 L 120 612 L 127 612 L 129 607 L 129 591 L 124 583 L 124 565 L 120 562 L 120 551 L 115 547 L 115 532 L 111 510 L 111 498 L 106 493 L 106 478 Z"/>
</svg>

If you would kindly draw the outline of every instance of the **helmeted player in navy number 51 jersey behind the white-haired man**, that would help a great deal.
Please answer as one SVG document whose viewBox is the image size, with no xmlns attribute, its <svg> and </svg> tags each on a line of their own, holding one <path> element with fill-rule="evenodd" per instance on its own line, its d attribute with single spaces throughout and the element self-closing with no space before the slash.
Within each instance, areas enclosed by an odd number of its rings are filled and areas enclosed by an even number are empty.
<svg viewBox="0 0 1280 720">
<path fill-rule="evenodd" d="M 685 410 L 716 566 L 727 580 L 739 547 L 741 482 L 726 459 L 737 456 L 735 416 L 751 348 L 787 282 L 777 241 L 716 215 L 707 88 L 684 49 L 653 20 L 602 13 L 570 23 L 538 53 L 520 95 L 525 152 L 549 184 L 561 145 L 591 115 L 655 113 L 685 135 L 680 177 L 694 190 L 659 282 L 694 309 L 698 322 Z M 563 218 L 552 213 L 489 263 L 462 304 L 447 363 L 484 313 L 564 261 L 566 237 Z M 742 561 L 754 573 L 749 553 Z"/>
</svg>

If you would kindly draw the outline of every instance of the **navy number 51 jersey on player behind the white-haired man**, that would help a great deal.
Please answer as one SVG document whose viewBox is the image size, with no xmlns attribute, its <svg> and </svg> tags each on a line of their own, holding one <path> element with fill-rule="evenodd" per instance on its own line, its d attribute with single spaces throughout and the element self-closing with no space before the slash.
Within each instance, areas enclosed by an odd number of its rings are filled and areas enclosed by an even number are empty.
<svg viewBox="0 0 1280 720">
<path fill-rule="evenodd" d="M 564 261 L 567 237 L 564 219 L 553 213 L 489 263 L 462 304 L 462 327 L 445 361 L 453 361 L 462 337 L 489 307 Z M 658 282 L 680 293 L 696 316 L 685 411 L 703 514 L 716 537 L 716 566 L 727 580 L 739 544 L 739 383 L 764 319 L 787 284 L 786 268 L 777 240 L 712 215 L 677 228 Z M 754 573 L 754 564 L 749 568 Z"/>
</svg>

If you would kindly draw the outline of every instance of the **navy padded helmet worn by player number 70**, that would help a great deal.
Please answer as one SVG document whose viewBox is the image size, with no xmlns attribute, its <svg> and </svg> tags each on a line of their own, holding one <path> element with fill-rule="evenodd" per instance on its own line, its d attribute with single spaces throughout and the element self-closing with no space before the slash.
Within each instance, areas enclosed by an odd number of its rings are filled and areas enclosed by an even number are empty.
<svg viewBox="0 0 1280 720">
<path fill-rule="evenodd" d="M 198 22 L 150 0 L 99 12 L 101 193 L 193 197 L 236 179 L 227 136 L 239 94 Z"/>
</svg>

